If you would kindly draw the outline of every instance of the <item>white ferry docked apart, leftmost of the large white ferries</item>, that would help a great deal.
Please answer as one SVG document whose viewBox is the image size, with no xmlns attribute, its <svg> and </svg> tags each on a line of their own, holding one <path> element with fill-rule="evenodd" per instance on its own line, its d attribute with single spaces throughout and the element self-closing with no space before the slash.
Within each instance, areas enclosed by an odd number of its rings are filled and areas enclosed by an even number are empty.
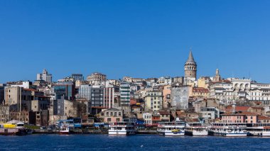
<svg viewBox="0 0 270 151">
<path fill-rule="evenodd" d="M 131 122 L 116 122 L 109 124 L 109 135 L 134 135 L 135 124 Z"/>
</svg>

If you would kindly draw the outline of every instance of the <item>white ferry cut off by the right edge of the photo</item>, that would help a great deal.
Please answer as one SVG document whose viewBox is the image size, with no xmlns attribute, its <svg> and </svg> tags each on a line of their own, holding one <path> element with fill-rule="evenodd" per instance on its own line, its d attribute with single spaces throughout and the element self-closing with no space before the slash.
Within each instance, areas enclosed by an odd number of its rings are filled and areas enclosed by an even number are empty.
<svg viewBox="0 0 270 151">
<path fill-rule="evenodd" d="M 270 124 L 269 123 L 248 123 L 247 132 L 249 136 L 270 137 Z"/>
</svg>

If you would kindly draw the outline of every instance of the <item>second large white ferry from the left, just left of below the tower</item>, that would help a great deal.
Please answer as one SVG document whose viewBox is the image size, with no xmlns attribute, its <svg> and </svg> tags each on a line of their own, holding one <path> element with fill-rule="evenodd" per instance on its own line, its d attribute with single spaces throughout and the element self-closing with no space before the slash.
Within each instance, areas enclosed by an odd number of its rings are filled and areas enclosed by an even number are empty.
<svg viewBox="0 0 270 151">
<path fill-rule="evenodd" d="M 158 135 L 183 136 L 185 135 L 185 122 L 160 122 L 158 123 Z"/>
</svg>

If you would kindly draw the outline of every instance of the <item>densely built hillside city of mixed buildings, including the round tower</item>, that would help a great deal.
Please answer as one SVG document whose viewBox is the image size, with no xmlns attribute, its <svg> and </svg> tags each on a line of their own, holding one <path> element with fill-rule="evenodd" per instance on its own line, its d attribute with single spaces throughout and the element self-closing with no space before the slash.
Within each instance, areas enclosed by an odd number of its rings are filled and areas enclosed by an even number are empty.
<svg viewBox="0 0 270 151">
<path fill-rule="evenodd" d="M 198 62 L 199 63 L 199 62 Z M 200 123 L 270 123 L 270 84 L 222 78 L 219 69 L 197 77 L 190 50 L 184 77 L 107 79 L 94 72 L 71 74 L 53 82 L 46 69 L 36 80 L 0 86 L 0 122 L 21 121 L 49 128 L 80 119 L 82 127 L 134 122 L 140 128 L 176 120 Z M 237 118 L 235 118 L 237 117 Z"/>
</svg>

